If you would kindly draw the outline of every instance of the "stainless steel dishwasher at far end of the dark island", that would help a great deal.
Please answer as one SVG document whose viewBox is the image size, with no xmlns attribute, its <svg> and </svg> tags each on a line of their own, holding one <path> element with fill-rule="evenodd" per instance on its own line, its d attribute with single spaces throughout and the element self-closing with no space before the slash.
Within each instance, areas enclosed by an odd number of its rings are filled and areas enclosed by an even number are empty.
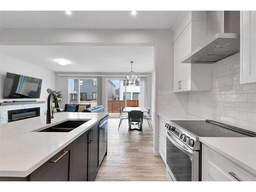
<svg viewBox="0 0 256 192">
<path fill-rule="evenodd" d="M 99 165 L 101 164 L 108 146 L 108 117 L 99 122 Z"/>
</svg>

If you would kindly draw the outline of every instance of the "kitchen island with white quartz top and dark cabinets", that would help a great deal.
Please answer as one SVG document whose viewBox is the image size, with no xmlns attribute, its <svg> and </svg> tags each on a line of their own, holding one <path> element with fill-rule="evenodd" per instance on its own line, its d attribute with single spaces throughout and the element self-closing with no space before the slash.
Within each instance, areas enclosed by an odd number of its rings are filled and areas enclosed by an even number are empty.
<svg viewBox="0 0 256 192">
<path fill-rule="evenodd" d="M 101 163 L 96 162 L 99 159 L 99 124 L 107 116 L 108 113 L 65 112 L 54 114 L 51 124 L 46 124 L 45 115 L 0 124 L 0 180 L 93 180 L 97 170 L 92 172 L 90 166 L 97 165 L 98 169 Z M 68 120 L 87 122 L 70 132 L 39 132 Z M 46 169 L 40 170 L 44 166 Z M 63 167 L 67 173 L 61 174 Z M 55 168 L 55 178 L 42 177 Z M 84 173 L 75 172 L 79 169 Z M 67 177 L 58 179 L 58 171 Z"/>
</svg>

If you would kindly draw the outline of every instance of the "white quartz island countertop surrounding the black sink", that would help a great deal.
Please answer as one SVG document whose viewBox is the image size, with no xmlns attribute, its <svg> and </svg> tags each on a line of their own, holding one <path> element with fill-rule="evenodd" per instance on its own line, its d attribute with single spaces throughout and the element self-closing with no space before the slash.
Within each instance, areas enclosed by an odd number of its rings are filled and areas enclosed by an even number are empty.
<svg viewBox="0 0 256 192">
<path fill-rule="evenodd" d="M 89 130 L 108 113 L 54 114 L 0 124 L 0 177 L 27 177 L 56 153 Z M 89 120 L 71 132 L 33 132 L 66 120 Z"/>
</svg>

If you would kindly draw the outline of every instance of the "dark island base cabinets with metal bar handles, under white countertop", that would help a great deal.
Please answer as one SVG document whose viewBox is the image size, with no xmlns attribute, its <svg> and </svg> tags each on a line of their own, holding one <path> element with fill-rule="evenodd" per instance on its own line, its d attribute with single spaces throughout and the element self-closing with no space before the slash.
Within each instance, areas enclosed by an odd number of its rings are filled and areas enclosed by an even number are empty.
<svg viewBox="0 0 256 192">
<path fill-rule="evenodd" d="M 100 147 L 106 147 L 99 145 L 102 120 L 107 120 L 107 117 L 93 125 L 26 178 L 0 177 L 0 181 L 93 181 L 101 164 Z"/>
</svg>

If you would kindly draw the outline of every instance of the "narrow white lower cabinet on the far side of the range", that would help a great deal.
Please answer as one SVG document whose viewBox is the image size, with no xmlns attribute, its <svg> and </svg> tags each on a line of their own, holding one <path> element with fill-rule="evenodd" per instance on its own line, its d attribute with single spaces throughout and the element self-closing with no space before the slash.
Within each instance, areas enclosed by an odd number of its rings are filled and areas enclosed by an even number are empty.
<svg viewBox="0 0 256 192">
<path fill-rule="evenodd" d="M 158 151 L 166 164 L 166 134 L 165 134 L 165 123 L 168 121 L 159 117 L 159 137 L 158 137 Z"/>
</svg>

